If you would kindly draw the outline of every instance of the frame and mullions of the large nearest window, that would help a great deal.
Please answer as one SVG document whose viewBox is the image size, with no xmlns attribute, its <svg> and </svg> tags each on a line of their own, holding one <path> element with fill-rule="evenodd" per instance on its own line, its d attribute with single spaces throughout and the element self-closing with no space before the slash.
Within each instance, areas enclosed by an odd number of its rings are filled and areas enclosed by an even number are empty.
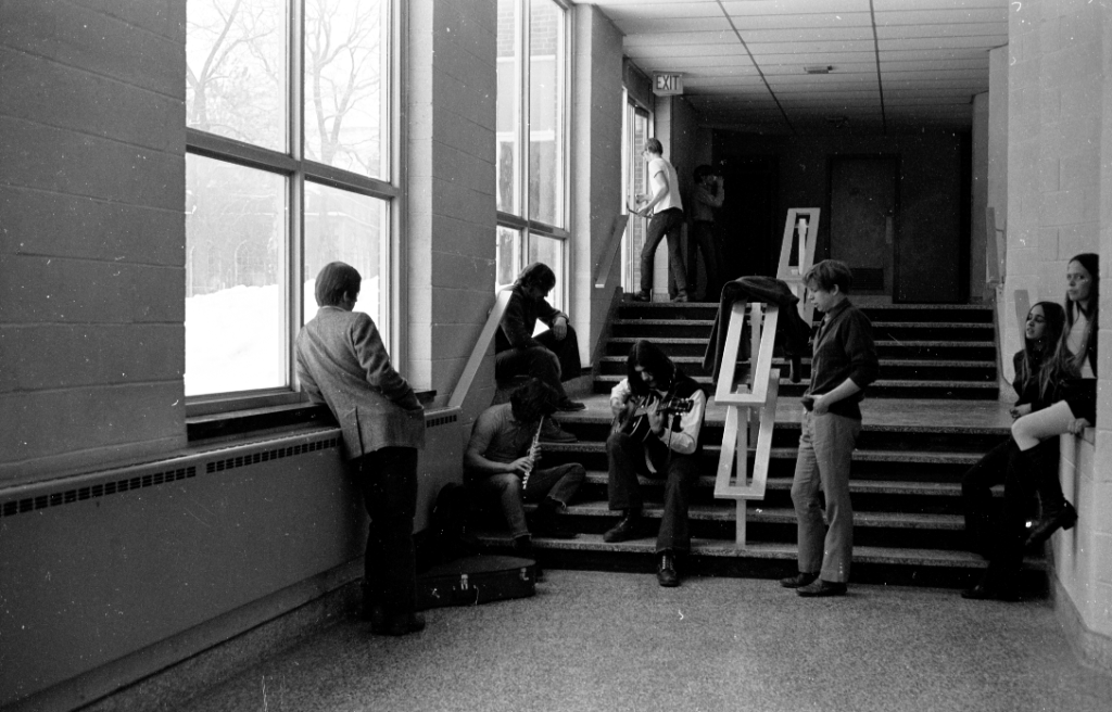
<svg viewBox="0 0 1112 712">
<path fill-rule="evenodd" d="M 186 154 L 199 156 L 226 163 L 242 166 L 286 179 L 286 243 L 279 272 L 284 279 L 282 294 L 286 318 L 282 322 L 280 341 L 282 368 L 288 385 L 206 393 L 186 397 L 186 417 L 199 418 L 232 411 L 257 410 L 291 403 L 304 403 L 308 395 L 301 390 L 295 369 L 295 338 L 305 322 L 304 280 L 305 265 L 305 184 L 318 183 L 355 194 L 383 200 L 387 210 L 387 233 L 383 235 L 383 308 L 376 322 L 387 338 L 390 353 L 396 363 L 405 363 L 405 354 L 399 351 L 405 343 L 400 333 L 405 324 L 401 275 L 404 251 L 398 249 L 405 228 L 405 193 L 401 182 L 405 176 L 404 152 L 406 140 L 403 116 L 401 77 L 405 71 L 405 50 L 401 31 L 406 22 L 404 0 L 381 0 L 386 3 L 384 37 L 389 48 L 384 52 L 381 76 L 389 81 L 384 92 L 380 114 L 386 119 L 383 129 L 381 152 L 388 161 L 386 180 L 338 169 L 305 158 L 305 0 L 287 0 L 288 51 L 286 82 L 288 102 L 286 106 L 287 152 L 262 148 L 216 133 L 208 133 L 186 127 Z M 189 255 L 186 255 L 187 261 Z"/>
</svg>

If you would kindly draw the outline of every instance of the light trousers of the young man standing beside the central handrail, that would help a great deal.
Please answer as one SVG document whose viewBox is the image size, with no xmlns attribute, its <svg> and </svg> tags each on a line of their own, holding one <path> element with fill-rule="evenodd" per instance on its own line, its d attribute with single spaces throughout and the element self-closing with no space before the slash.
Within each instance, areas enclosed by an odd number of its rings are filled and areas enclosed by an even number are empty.
<svg viewBox="0 0 1112 712">
<path fill-rule="evenodd" d="M 845 583 L 853 561 L 853 505 L 850 463 L 861 421 L 845 415 L 803 413 L 800 454 L 792 480 L 792 502 L 800 539 L 800 571 L 818 572 L 823 581 Z M 826 494 L 826 521 L 818 489 Z"/>
</svg>

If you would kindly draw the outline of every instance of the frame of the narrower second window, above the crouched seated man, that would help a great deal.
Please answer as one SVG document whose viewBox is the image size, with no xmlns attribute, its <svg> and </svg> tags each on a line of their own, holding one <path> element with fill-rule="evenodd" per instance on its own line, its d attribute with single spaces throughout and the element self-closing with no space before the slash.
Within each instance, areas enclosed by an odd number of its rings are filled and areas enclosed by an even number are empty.
<svg viewBox="0 0 1112 712">
<path fill-rule="evenodd" d="M 558 130 L 556 134 L 563 141 L 562 156 L 559 159 L 559 167 L 562 171 L 562 180 L 557 187 L 559 192 L 559 205 L 560 205 L 560 218 L 565 225 L 570 225 L 572 220 L 572 189 L 570 189 L 570 170 L 572 170 L 572 58 L 575 56 L 573 42 L 574 32 L 573 20 L 575 6 L 570 4 L 566 0 L 548 0 L 555 4 L 560 10 L 560 17 L 563 20 L 563 43 L 558 48 L 558 51 L 563 52 L 563 57 L 556 57 L 554 66 L 557 69 L 557 83 L 558 83 L 558 96 L 559 96 L 559 110 L 557 111 L 557 120 L 559 121 Z M 529 30 L 532 27 L 532 0 L 514 0 L 517 3 L 517 32 L 518 37 L 522 38 L 522 73 L 519 77 L 519 84 L 517 87 L 518 101 L 520 102 L 520 111 L 516 112 L 518 124 L 516 128 L 518 136 L 522 137 L 522 144 L 518 150 L 522 152 L 522 170 L 517 177 L 517 191 L 520 195 L 518 201 L 518 210 L 520 214 L 515 214 L 506 212 L 503 210 L 496 210 L 497 227 L 506 228 L 517 232 L 519 242 L 520 264 L 516 264 L 514 273 L 517 274 L 528 264 L 528 255 L 532 251 L 532 235 L 537 233 L 540 237 L 557 240 L 562 245 L 562 274 L 556 275 L 557 289 L 559 291 L 555 298 L 549 301 L 555 302 L 557 308 L 562 308 L 567 304 L 568 298 L 570 297 L 569 285 L 567 275 L 569 270 L 569 259 L 570 249 L 569 240 L 572 238 L 572 232 L 567 228 L 560 228 L 540 220 L 534 220 L 529 218 L 529 211 L 532 205 L 529 204 L 529 106 L 530 106 L 530 91 L 529 91 L 529 47 L 532 42 L 532 37 Z M 496 99 L 497 101 L 497 99 Z M 495 157 L 497 160 L 497 156 Z M 497 230 L 496 230 L 497 234 Z M 496 237 L 497 240 L 497 237 Z M 497 271 L 495 272 L 496 284 L 495 289 L 500 289 L 505 284 L 497 283 Z"/>
</svg>

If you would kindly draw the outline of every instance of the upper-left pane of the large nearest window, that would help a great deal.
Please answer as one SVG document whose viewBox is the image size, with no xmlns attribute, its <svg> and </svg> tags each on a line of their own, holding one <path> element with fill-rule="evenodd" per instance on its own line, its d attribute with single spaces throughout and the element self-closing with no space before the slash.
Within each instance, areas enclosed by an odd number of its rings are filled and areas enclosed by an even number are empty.
<svg viewBox="0 0 1112 712">
<path fill-rule="evenodd" d="M 188 0 L 186 126 L 286 151 L 284 0 Z"/>
</svg>

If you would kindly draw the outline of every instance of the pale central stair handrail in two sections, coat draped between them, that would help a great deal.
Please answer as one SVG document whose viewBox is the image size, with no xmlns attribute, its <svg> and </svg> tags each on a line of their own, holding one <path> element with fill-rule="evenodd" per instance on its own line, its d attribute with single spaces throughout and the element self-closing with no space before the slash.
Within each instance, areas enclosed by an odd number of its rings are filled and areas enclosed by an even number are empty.
<svg viewBox="0 0 1112 712">
<path fill-rule="evenodd" d="M 801 220 L 807 215 L 810 220 Z M 777 279 L 786 282 L 800 299 L 797 309 L 806 323 L 814 315 L 813 305 L 806 300 L 804 277 L 814 262 L 815 241 L 818 234 L 818 208 L 792 208 L 784 224 L 784 240 L 781 243 Z M 798 264 L 792 268 L 793 244 L 798 244 Z M 737 354 L 741 351 L 746 311 L 749 312 L 752 348 L 749 351 L 749 373 L 752 390 L 741 384 L 735 391 L 734 380 Z M 726 342 L 722 353 L 722 371 L 715 387 L 714 401 L 726 405 L 726 424 L 715 473 L 714 495 L 733 499 L 736 507 L 735 542 L 745 545 L 746 512 L 748 500 L 763 500 L 768 481 L 768 464 L 772 460 L 772 435 L 776 424 L 776 404 L 780 394 L 780 369 L 772 365 L 776 341 L 776 324 L 780 308 L 761 302 L 735 302 L 731 309 L 726 328 Z M 743 411 L 744 409 L 744 417 Z M 749 478 L 748 445 L 756 439 L 753 473 Z M 735 473 L 736 468 L 736 475 Z"/>
</svg>

